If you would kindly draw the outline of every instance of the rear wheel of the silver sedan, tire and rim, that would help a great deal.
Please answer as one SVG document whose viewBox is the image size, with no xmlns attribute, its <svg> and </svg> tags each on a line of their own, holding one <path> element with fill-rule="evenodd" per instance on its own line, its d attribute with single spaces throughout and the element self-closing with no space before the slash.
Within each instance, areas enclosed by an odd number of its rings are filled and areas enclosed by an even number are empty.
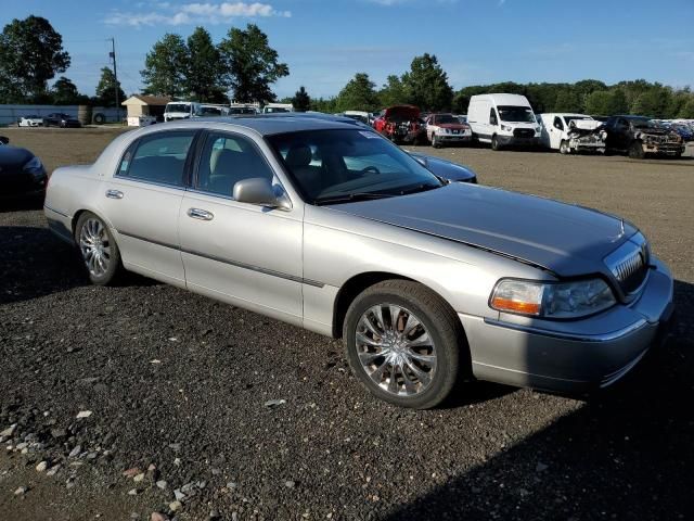
<svg viewBox="0 0 694 521">
<path fill-rule="evenodd" d="M 75 226 L 75 242 L 92 284 L 112 285 L 124 267 L 120 250 L 106 224 L 91 212 L 82 213 Z"/>
</svg>

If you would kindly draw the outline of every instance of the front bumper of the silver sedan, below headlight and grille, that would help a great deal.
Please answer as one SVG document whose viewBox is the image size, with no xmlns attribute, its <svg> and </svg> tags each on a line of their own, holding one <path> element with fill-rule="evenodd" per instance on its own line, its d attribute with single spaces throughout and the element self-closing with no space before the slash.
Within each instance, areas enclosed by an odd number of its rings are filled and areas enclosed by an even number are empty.
<svg viewBox="0 0 694 521">
<path fill-rule="evenodd" d="M 607 386 L 633 368 L 667 332 L 672 277 L 653 257 L 633 303 L 574 321 L 511 321 L 459 314 L 471 346 L 473 373 L 517 386 L 581 394 Z"/>
</svg>

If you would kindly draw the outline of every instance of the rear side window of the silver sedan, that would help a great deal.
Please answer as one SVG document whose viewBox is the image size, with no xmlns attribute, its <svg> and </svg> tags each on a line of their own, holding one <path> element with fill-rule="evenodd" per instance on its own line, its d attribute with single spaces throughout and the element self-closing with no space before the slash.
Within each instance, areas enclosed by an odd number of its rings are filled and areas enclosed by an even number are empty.
<svg viewBox="0 0 694 521">
<path fill-rule="evenodd" d="M 128 149 L 118 175 L 143 181 L 180 187 L 193 132 L 162 132 L 146 136 Z"/>
</svg>

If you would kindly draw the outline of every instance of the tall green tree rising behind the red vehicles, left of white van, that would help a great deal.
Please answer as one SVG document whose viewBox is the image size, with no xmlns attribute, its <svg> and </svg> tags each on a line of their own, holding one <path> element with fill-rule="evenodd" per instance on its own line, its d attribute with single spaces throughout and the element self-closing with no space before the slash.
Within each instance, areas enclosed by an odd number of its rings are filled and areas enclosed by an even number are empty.
<svg viewBox="0 0 694 521">
<path fill-rule="evenodd" d="M 435 54 L 415 56 L 410 71 L 402 75 L 402 85 L 410 103 L 422 110 L 442 111 L 452 105 L 453 89 Z"/>
</svg>

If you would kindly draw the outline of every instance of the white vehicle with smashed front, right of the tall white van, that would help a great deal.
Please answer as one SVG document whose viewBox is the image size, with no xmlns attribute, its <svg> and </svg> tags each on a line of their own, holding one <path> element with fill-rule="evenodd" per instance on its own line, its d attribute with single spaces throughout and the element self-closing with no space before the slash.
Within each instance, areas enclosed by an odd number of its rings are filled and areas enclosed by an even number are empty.
<svg viewBox="0 0 694 521">
<path fill-rule="evenodd" d="M 576 152 L 605 153 L 607 132 L 603 122 L 586 114 L 540 114 L 542 126 L 540 139 L 548 149 L 558 150 L 562 154 Z"/>
</svg>

